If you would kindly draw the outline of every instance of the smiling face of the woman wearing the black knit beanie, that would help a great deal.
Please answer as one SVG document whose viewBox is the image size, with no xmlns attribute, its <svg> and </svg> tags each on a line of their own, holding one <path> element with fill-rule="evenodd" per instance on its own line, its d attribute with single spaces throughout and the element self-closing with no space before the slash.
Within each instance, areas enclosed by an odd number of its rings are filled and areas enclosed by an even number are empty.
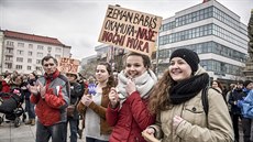
<svg viewBox="0 0 253 142">
<path fill-rule="evenodd" d="M 168 70 L 175 81 L 180 81 L 191 76 L 191 68 L 183 58 L 174 57 L 169 64 Z"/>
</svg>

